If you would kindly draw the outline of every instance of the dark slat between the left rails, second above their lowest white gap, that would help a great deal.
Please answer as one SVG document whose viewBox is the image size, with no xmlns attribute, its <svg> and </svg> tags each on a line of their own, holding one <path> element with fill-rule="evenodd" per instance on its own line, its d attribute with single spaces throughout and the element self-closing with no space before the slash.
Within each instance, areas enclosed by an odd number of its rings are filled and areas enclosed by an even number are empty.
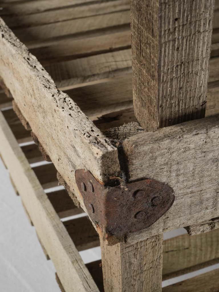
<svg viewBox="0 0 219 292">
<path fill-rule="evenodd" d="M 47 193 L 47 197 L 60 218 L 65 218 L 82 212 L 80 208 L 75 206 L 66 190 Z"/>
</svg>

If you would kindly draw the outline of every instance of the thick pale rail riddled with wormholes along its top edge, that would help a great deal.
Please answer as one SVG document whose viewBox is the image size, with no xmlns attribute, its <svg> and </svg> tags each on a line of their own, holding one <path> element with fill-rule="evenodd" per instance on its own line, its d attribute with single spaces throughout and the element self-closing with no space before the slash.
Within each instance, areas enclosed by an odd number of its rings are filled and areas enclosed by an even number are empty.
<svg viewBox="0 0 219 292">
<path fill-rule="evenodd" d="M 1 60 L 4 60 L 0 62 L 0 75 L 55 168 L 86 211 L 74 172 L 86 168 L 106 183 L 120 170 L 117 149 L 79 107 L 56 88 L 49 74 L 3 20 L 0 32 Z"/>
</svg>

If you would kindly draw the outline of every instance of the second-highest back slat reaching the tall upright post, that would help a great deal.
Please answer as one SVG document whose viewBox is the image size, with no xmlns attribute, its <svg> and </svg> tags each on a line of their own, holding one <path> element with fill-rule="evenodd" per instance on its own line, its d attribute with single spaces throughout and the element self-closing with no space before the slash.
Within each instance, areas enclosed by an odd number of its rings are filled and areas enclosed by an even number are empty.
<svg viewBox="0 0 219 292">
<path fill-rule="evenodd" d="M 119 11 L 78 19 L 53 22 L 34 27 L 13 29 L 15 35 L 25 44 L 37 43 L 44 39 L 60 38 L 74 34 L 87 34 L 91 31 L 130 23 L 130 11 Z"/>
</svg>

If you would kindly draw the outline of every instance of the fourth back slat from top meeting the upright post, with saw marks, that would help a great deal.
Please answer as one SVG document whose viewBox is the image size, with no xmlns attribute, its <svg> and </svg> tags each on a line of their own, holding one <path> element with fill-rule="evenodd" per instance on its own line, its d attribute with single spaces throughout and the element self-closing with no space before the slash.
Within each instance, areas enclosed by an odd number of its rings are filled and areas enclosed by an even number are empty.
<svg viewBox="0 0 219 292">
<path fill-rule="evenodd" d="M 131 50 L 58 62 L 45 66 L 58 88 L 131 73 Z"/>
</svg>

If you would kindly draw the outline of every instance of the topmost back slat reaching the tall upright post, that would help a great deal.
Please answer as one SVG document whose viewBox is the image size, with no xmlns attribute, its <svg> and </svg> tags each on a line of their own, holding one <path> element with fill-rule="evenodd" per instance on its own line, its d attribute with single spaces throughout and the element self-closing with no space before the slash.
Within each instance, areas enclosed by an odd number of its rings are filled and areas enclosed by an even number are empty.
<svg viewBox="0 0 219 292">
<path fill-rule="evenodd" d="M 63 1 L 62 1 L 63 3 Z M 60 5 L 62 5 L 60 3 Z M 38 6 L 40 2 L 38 0 Z M 16 7 L 12 8 L 16 11 Z M 128 0 L 104 1 L 99 3 L 88 2 L 86 6 L 62 7 L 55 10 L 47 10 L 44 12 L 31 13 L 28 15 L 14 15 L 13 17 L 4 16 L 4 21 L 10 28 L 15 27 L 31 27 L 43 25 L 46 23 L 60 22 L 63 20 L 86 18 L 89 16 L 112 13 L 116 11 L 129 10 L 130 4 Z"/>
</svg>

